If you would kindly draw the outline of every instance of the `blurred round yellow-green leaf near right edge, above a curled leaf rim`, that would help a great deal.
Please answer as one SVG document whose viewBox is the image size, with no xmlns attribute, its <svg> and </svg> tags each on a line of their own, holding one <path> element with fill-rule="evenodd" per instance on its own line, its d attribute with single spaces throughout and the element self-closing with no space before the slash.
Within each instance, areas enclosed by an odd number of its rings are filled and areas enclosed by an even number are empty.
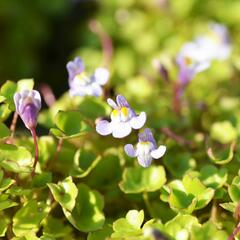
<svg viewBox="0 0 240 240">
<path fill-rule="evenodd" d="M 231 122 L 229 121 L 214 123 L 211 127 L 210 134 L 212 139 L 222 144 L 231 143 L 237 138 L 237 130 L 232 126 Z"/>
</svg>

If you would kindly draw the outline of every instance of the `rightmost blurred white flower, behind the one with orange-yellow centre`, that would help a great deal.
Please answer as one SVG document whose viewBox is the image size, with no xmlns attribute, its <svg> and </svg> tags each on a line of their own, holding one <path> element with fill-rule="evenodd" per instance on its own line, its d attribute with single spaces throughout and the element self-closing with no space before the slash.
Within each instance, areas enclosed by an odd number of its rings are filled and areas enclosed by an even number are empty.
<svg viewBox="0 0 240 240">
<path fill-rule="evenodd" d="M 206 59 L 224 60 L 231 54 L 232 46 L 228 29 L 218 23 L 209 24 L 209 34 L 199 36 L 195 42 L 205 52 Z"/>
</svg>

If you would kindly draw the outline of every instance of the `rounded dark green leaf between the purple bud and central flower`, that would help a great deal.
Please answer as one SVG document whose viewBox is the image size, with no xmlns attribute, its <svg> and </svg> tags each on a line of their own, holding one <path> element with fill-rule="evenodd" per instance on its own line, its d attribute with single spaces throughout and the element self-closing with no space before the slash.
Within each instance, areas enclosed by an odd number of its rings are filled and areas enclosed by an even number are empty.
<svg viewBox="0 0 240 240">
<path fill-rule="evenodd" d="M 50 132 L 57 138 L 75 138 L 91 130 L 79 111 L 59 111 L 55 117 L 55 124 L 57 128 L 50 129 Z"/>
</svg>

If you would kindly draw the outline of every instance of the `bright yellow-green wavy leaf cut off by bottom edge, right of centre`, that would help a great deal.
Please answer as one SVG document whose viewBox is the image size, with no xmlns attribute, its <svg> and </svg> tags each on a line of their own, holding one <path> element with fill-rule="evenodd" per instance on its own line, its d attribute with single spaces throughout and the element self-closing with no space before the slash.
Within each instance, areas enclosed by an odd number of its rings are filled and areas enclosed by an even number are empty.
<svg viewBox="0 0 240 240">
<path fill-rule="evenodd" d="M 194 226 L 200 226 L 196 217 L 178 214 L 164 225 L 164 231 L 176 240 L 188 240 Z"/>
</svg>

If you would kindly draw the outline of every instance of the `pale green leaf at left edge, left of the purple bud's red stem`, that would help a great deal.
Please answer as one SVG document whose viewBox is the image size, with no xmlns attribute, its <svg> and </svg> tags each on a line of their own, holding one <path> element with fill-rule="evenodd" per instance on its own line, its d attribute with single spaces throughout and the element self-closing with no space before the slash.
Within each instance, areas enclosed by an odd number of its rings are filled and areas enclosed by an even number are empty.
<svg viewBox="0 0 240 240">
<path fill-rule="evenodd" d="M 0 145 L 0 166 L 7 171 L 30 173 L 32 164 L 32 155 L 24 147 L 10 144 Z"/>
</svg>

